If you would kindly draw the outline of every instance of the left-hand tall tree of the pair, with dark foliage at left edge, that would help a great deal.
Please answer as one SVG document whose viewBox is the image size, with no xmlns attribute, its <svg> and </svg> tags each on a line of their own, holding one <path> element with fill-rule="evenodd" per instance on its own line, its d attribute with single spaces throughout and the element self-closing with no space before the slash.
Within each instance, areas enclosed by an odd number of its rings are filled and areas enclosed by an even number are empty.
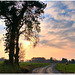
<svg viewBox="0 0 75 75">
<path fill-rule="evenodd" d="M 5 47 L 6 51 L 9 52 L 9 62 L 13 63 L 13 56 L 14 56 L 14 39 L 15 39 L 15 33 L 14 33 L 14 24 L 13 24 L 13 17 L 11 14 L 11 7 L 12 5 L 15 5 L 14 2 L 9 1 L 0 1 L 0 18 L 5 20 L 6 25 L 6 31 L 5 34 Z M 14 25 L 14 26 L 13 26 Z"/>
</svg>

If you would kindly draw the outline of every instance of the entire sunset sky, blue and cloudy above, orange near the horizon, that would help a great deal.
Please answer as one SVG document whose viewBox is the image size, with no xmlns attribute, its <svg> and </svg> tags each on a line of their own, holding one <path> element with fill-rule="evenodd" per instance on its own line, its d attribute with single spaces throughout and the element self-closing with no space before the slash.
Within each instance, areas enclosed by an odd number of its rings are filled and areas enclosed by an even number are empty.
<svg viewBox="0 0 75 75">
<path fill-rule="evenodd" d="M 44 19 L 40 21 L 41 32 L 37 46 L 26 47 L 25 59 L 50 57 L 75 59 L 75 1 L 45 1 Z M 0 20 L 0 38 L 5 33 Z M 26 45 L 26 44 L 25 44 Z M 6 57 L 3 41 L 0 41 L 0 57 Z"/>
</svg>

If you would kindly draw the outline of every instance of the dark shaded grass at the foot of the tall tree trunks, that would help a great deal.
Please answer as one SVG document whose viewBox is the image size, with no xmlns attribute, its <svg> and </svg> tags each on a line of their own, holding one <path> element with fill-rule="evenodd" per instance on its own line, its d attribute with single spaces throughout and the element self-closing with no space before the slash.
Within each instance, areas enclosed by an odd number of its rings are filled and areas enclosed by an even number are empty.
<svg viewBox="0 0 75 75">
<path fill-rule="evenodd" d="M 0 73 L 18 73 L 21 72 L 21 69 L 17 65 L 9 65 L 0 62 Z"/>
</svg>

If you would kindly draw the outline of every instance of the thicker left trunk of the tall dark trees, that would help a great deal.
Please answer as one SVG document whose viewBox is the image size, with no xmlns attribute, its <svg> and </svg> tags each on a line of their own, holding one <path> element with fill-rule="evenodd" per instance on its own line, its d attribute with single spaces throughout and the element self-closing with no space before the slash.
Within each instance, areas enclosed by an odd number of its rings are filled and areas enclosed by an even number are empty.
<svg viewBox="0 0 75 75">
<path fill-rule="evenodd" d="M 10 31 L 10 47 L 9 47 L 9 62 L 10 64 L 14 63 L 14 49 L 15 49 L 15 25 L 14 23 L 11 24 L 11 31 Z"/>
</svg>

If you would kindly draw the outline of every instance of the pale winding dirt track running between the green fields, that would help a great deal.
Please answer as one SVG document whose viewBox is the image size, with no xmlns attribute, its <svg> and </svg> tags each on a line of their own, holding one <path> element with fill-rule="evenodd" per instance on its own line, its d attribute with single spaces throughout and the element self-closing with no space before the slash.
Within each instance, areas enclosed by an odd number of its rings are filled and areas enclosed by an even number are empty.
<svg viewBox="0 0 75 75">
<path fill-rule="evenodd" d="M 56 64 L 51 64 L 45 67 L 36 68 L 32 71 L 32 73 L 60 73 L 55 69 Z"/>
</svg>

